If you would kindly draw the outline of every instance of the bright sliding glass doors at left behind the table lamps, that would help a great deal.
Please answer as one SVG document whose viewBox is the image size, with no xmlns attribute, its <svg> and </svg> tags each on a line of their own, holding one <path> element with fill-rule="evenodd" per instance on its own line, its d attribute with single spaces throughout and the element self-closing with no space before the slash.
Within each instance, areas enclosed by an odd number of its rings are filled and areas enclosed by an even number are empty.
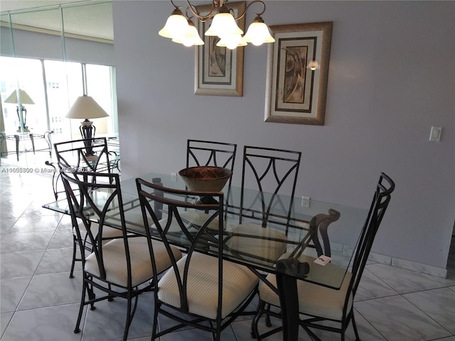
<svg viewBox="0 0 455 341">
<path fill-rule="evenodd" d="M 84 77 L 84 73 L 86 77 Z M 67 119 L 77 97 L 93 97 L 109 117 L 95 119 L 97 136 L 117 135 L 117 114 L 114 110 L 113 67 L 58 60 L 34 60 L 0 57 L 2 102 L 18 87 L 26 90 L 35 104 L 24 104 L 23 120 L 31 133 L 52 130 L 53 142 L 80 138 L 80 121 Z M 85 81 L 85 83 L 84 83 Z M 3 103 L 6 134 L 20 131 L 17 104 Z"/>
</svg>

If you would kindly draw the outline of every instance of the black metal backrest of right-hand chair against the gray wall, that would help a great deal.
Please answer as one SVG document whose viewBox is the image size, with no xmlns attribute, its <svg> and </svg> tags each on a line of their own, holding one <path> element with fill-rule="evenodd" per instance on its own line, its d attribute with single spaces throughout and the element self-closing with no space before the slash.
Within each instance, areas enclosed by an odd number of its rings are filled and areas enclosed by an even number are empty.
<svg viewBox="0 0 455 341">
<path fill-rule="evenodd" d="M 262 227 L 266 227 L 268 222 L 274 220 L 272 211 L 279 207 L 285 221 L 277 223 L 289 225 L 300 158 L 300 151 L 244 146 L 240 223 L 242 218 L 247 217 L 261 220 Z M 246 184 L 257 191 L 255 197 L 247 195 Z M 265 195 L 266 192 L 270 195 Z M 284 195 L 287 202 L 280 195 Z"/>
</svg>

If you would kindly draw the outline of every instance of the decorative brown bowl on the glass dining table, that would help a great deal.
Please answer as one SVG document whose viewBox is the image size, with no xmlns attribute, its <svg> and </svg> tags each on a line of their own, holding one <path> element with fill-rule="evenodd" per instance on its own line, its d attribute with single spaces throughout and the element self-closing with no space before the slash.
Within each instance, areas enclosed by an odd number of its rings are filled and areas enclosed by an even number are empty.
<svg viewBox="0 0 455 341">
<path fill-rule="evenodd" d="M 223 167 L 197 166 L 183 168 L 178 172 L 189 190 L 220 192 L 225 187 L 232 172 Z"/>
</svg>

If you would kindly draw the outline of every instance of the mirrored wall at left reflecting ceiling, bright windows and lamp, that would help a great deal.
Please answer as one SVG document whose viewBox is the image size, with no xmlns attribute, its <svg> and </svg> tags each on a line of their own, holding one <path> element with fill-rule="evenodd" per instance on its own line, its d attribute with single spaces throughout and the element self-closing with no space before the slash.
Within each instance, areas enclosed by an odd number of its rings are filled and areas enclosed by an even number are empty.
<svg viewBox="0 0 455 341">
<path fill-rule="evenodd" d="M 16 135 L 21 152 L 30 134 L 79 139 L 80 120 L 65 115 L 82 94 L 109 114 L 93 120 L 97 136 L 118 136 L 111 1 L 1 12 L 0 34 L 2 156 L 16 158 Z"/>
</svg>

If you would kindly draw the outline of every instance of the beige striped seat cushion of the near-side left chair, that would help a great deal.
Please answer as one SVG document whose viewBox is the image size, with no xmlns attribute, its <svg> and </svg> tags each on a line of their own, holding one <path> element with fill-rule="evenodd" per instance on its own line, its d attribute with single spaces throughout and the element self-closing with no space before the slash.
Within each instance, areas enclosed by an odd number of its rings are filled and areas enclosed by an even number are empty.
<svg viewBox="0 0 455 341">
<path fill-rule="evenodd" d="M 171 266 L 171 260 L 162 242 L 152 240 L 157 271 L 160 273 Z M 132 267 L 132 286 L 138 286 L 148 281 L 153 276 L 149 246 L 145 237 L 132 237 L 128 239 L 129 254 Z M 127 259 L 125 257 L 123 239 L 114 239 L 103 247 L 106 279 L 118 286 L 127 286 Z M 172 249 L 176 259 L 181 258 L 181 251 Z M 85 271 L 95 276 L 100 276 L 100 268 L 94 253 L 85 259 Z"/>
</svg>

